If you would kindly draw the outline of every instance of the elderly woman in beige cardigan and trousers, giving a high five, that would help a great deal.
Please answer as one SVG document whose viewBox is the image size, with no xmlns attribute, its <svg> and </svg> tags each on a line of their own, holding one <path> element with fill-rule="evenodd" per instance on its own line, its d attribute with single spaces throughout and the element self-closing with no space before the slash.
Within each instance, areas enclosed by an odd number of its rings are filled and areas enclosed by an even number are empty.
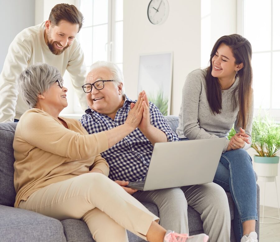
<svg viewBox="0 0 280 242">
<path fill-rule="evenodd" d="M 56 68 L 28 67 L 19 77 L 19 90 L 31 109 L 21 116 L 13 143 L 15 207 L 59 220 L 81 219 L 97 242 L 128 241 L 126 229 L 155 242 L 208 240 L 205 234 L 166 231 L 157 216 L 107 177 L 109 166 L 100 152 L 138 126 L 142 93 L 123 125 L 88 134 L 79 121 L 59 117 L 67 107 L 67 88 Z"/>
</svg>

